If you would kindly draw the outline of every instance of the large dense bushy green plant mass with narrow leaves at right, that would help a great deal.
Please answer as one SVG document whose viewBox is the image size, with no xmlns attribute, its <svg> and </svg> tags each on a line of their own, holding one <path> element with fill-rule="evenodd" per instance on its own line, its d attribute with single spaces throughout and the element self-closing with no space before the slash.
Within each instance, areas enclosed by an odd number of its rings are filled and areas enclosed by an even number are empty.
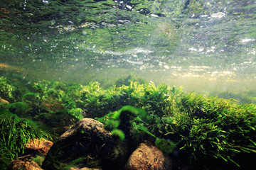
<svg viewBox="0 0 256 170">
<path fill-rule="evenodd" d="M 180 135 L 180 149 L 195 158 L 215 157 L 235 163 L 230 152 L 256 152 L 255 105 L 238 106 L 223 98 L 190 93 L 183 95 L 177 106 L 180 113 L 174 115 L 176 123 L 168 130 Z"/>
</svg>

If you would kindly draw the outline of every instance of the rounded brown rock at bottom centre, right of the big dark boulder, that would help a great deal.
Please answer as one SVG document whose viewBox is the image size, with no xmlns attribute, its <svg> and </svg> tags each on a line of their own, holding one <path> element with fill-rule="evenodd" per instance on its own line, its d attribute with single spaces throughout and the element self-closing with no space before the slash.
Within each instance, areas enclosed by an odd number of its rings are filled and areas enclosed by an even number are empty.
<svg viewBox="0 0 256 170">
<path fill-rule="evenodd" d="M 171 168 L 171 158 L 149 142 L 140 144 L 125 165 L 126 170 L 170 170 Z"/>
</svg>

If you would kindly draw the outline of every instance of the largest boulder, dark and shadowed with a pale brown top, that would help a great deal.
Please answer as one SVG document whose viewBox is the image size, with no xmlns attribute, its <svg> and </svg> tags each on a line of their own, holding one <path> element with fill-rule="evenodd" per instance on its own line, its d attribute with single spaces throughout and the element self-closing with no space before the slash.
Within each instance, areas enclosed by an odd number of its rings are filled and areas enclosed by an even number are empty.
<svg viewBox="0 0 256 170">
<path fill-rule="evenodd" d="M 42 168 L 63 169 L 74 162 L 80 168 L 102 169 L 117 169 L 124 164 L 121 149 L 112 134 L 105 130 L 104 124 L 92 118 L 83 118 L 63 133 L 50 148 Z"/>
</svg>

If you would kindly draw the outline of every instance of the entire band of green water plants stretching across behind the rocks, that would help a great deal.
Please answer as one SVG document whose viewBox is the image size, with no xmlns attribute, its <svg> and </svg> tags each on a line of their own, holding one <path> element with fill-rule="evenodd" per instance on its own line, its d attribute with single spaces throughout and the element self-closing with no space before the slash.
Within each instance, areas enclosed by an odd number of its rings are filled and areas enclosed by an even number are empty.
<svg viewBox="0 0 256 170">
<path fill-rule="evenodd" d="M 16 81 L 1 79 L 16 91 L 22 88 Z M 216 158 L 238 165 L 243 162 L 236 157 L 256 153 L 254 104 L 239 105 L 234 100 L 185 93 L 182 87 L 153 82 L 141 84 L 128 78 L 119 82 L 107 89 L 97 81 L 86 86 L 58 81 L 24 84 L 26 90 L 12 91 L 15 102 L 2 111 L 30 116 L 50 127 L 97 117 L 119 141 L 137 144 L 150 140 L 167 154 L 174 149 L 185 154 L 198 168 L 199 160 Z M 6 158 L 6 153 L 2 154 Z"/>
</svg>

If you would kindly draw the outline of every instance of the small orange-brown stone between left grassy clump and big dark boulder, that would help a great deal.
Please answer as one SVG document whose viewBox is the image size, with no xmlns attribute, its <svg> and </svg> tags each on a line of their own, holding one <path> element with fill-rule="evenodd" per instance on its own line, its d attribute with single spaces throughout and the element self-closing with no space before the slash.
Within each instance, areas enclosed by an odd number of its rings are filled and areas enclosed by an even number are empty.
<svg viewBox="0 0 256 170">
<path fill-rule="evenodd" d="M 46 157 L 50 147 L 53 146 L 53 142 L 46 140 L 46 139 L 31 139 L 30 142 L 28 142 L 24 149 L 33 149 L 36 150 L 38 153 L 42 154 Z"/>
</svg>

